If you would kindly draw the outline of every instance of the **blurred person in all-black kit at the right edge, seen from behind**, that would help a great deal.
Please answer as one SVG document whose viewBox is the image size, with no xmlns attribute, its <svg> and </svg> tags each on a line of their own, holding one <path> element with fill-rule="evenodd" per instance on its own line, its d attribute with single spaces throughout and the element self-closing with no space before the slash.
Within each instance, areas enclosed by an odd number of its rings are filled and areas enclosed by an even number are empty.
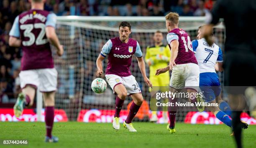
<svg viewBox="0 0 256 148">
<path fill-rule="evenodd" d="M 209 25 L 204 29 L 204 37 L 211 46 L 212 27 L 219 23 L 220 18 L 224 18 L 224 84 L 228 86 L 230 107 L 233 110 L 232 127 L 238 148 L 242 147 L 240 115 L 246 106 L 243 94 L 256 84 L 256 21 L 252 21 L 255 14 L 255 0 L 217 0 L 207 19 Z"/>
</svg>

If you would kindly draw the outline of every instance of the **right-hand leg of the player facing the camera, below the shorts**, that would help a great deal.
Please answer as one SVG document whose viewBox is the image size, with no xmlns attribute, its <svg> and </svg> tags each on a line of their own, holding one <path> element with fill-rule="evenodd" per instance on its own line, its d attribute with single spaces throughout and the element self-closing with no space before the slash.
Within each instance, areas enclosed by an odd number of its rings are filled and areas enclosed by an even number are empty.
<svg viewBox="0 0 256 148">
<path fill-rule="evenodd" d="M 123 123 L 123 126 L 125 128 L 127 128 L 130 132 L 137 132 L 137 130 L 135 130 L 135 128 L 133 128 L 132 125 L 132 120 L 135 117 L 135 115 L 137 114 L 138 110 L 141 107 L 141 104 L 143 103 L 143 97 L 141 93 L 136 93 L 136 94 L 132 94 L 131 98 L 133 99 L 133 103 L 130 107 L 130 112 L 125 120 L 125 122 Z"/>
</svg>

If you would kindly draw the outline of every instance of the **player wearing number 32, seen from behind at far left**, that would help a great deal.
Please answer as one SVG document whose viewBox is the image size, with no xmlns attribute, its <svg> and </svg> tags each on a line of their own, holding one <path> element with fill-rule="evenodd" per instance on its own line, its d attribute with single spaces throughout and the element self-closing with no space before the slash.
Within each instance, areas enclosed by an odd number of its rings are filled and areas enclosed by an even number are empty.
<svg viewBox="0 0 256 148">
<path fill-rule="evenodd" d="M 45 103 L 46 142 L 58 142 L 51 135 L 54 122 L 54 95 L 57 87 L 57 71 L 54 68 L 49 41 L 63 54 L 63 46 L 55 33 L 56 15 L 44 10 L 45 0 L 29 0 L 31 10 L 15 18 L 10 31 L 9 45 L 21 47 L 20 87 L 22 92 L 15 103 L 14 114 L 20 117 L 23 104 L 33 105 L 36 89 L 43 92 Z"/>
</svg>

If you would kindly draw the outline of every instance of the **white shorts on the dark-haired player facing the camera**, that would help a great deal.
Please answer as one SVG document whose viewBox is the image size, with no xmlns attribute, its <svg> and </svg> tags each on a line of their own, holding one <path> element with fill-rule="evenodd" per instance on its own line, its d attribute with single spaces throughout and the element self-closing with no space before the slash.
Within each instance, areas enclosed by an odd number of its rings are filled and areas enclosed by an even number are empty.
<svg viewBox="0 0 256 148">
<path fill-rule="evenodd" d="M 141 88 L 139 87 L 135 77 L 133 75 L 128 77 L 120 77 L 115 74 L 108 74 L 106 75 L 108 84 L 113 89 L 113 92 L 115 93 L 115 86 L 118 84 L 123 84 L 125 89 L 127 90 L 127 95 L 141 93 Z"/>
</svg>

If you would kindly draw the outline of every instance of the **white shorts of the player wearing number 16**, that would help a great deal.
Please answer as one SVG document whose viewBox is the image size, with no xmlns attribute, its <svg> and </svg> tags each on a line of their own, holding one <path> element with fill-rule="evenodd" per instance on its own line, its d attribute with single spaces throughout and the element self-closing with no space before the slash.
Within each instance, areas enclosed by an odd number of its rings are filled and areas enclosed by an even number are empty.
<svg viewBox="0 0 256 148">
<path fill-rule="evenodd" d="M 170 87 L 175 89 L 193 88 L 198 91 L 199 66 L 195 63 L 179 64 L 173 67 Z"/>
</svg>

